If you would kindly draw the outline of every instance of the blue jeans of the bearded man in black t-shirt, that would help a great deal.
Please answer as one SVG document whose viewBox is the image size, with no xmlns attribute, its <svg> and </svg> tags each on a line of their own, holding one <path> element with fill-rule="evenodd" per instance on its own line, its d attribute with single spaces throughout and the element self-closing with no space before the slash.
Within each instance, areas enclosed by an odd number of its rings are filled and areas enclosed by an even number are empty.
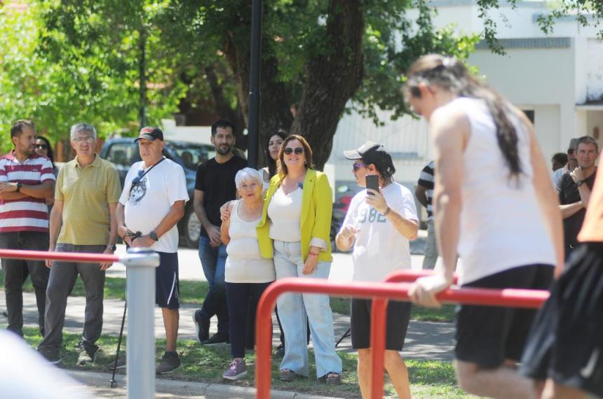
<svg viewBox="0 0 603 399">
<path fill-rule="evenodd" d="M 211 246 L 210 239 L 201 236 L 199 239 L 199 259 L 203 274 L 208 280 L 210 290 L 205 296 L 201 316 L 209 320 L 214 315 L 218 318 L 218 332 L 229 332 L 228 306 L 226 305 L 226 287 L 224 286 L 224 267 L 226 265 L 226 246 Z"/>
</svg>

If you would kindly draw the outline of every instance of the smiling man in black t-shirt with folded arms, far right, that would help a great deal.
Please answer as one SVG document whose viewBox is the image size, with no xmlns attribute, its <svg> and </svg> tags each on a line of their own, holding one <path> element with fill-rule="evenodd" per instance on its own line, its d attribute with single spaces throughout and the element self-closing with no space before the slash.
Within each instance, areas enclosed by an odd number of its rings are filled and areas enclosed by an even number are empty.
<svg viewBox="0 0 603 399">
<path fill-rule="evenodd" d="M 576 145 L 578 167 L 564 174 L 557 185 L 561 214 L 563 216 L 563 232 L 565 237 L 565 258 L 578 246 L 578 232 L 582 228 L 590 191 L 595 184 L 597 167 L 595 161 L 599 156 L 599 144 L 595 139 L 584 136 Z"/>
</svg>

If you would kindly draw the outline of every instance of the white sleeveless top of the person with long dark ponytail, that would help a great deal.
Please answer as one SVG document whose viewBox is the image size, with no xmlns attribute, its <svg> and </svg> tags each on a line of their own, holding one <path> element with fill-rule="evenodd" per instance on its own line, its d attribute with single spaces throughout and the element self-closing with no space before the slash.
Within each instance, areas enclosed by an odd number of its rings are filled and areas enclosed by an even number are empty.
<svg viewBox="0 0 603 399">
<path fill-rule="evenodd" d="M 523 172 L 517 184 L 517 179 L 509 178 L 485 102 L 461 97 L 445 106 L 461 109 L 471 127 L 463 153 L 459 283 L 518 266 L 555 265 L 553 243 L 532 183 L 529 132 L 519 118 L 511 116 Z"/>
</svg>

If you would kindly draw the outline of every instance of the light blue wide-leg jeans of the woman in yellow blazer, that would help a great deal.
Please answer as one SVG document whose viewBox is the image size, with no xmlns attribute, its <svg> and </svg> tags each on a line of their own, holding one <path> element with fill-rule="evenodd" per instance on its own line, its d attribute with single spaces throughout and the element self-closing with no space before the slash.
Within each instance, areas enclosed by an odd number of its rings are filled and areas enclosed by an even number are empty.
<svg viewBox="0 0 603 399">
<path fill-rule="evenodd" d="M 303 274 L 304 261 L 299 242 L 274 241 L 274 266 L 276 279 L 328 279 L 331 262 L 318 262 L 312 274 Z M 306 320 L 316 358 L 316 377 L 327 372 L 341 372 L 341 358 L 335 351 L 333 314 L 329 295 L 285 293 L 277 300 L 278 316 L 285 332 L 285 357 L 280 370 L 288 369 L 308 375 L 308 349 L 306 347 Z M 307 315 L 307 316 L 306 316 Z"/>
</svg>

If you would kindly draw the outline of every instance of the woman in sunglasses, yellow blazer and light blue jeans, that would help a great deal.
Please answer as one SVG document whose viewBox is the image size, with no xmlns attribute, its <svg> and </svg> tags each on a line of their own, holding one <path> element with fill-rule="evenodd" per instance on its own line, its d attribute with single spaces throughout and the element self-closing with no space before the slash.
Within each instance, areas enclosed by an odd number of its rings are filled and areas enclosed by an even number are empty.
<svg viewBox="0 0 603 399">
<path fill-rule="evenodd" d="M 327 176 L 311 169 L 312 150 L 292 134 L 280 146 L 278 174 L 266 192 L 257 239 L 262 256 L 274 257 L 276 279 L 328 279 L 332 262 L 329 239 L 333 210 Z M 341 381 L 341 358 L 335 351 L 333 315 L 328 295 L 287 293 L 277 301 L 285 332 L 285 356 L 280 379 L 308 375 L 306 316 L 320 381 Z"/>
</svg>

